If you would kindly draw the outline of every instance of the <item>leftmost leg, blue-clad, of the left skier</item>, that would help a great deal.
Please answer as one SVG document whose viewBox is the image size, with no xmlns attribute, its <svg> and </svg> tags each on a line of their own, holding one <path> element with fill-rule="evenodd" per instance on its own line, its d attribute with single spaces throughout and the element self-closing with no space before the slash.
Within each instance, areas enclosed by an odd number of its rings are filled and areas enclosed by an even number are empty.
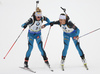
<svg viewBox="0 0 100 74">
<path fill-rule="evenodd" d="M 34 42 L 34 39 L 32 37 L 32 34 L 28 33 L 28 51 L 26 52 L 24 67 L 28 67 L 28 60 L 31 55 L 31 51 L 33 49 L 33 42 Z"/>
</svg>

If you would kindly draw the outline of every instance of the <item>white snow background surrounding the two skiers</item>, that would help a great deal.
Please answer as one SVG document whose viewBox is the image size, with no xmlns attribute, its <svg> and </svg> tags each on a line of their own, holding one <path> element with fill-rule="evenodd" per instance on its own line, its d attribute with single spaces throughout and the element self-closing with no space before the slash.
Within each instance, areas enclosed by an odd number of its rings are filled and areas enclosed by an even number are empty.
<svg viewBox="0 0 100 74">
<path fill-rule="evenodd" d="M 36 0 L 0 0 L 0 74 L 31 74 L 20 69 L 23 66 L 27 51 L 27 31 L 23 32 L 6 59 L 3 57 L 22 31 L 21 25 L 27 21 L 36 9 Z M 73 23 L 81 30 L 80 36 L 100 27 L 100 0 L 40 0 L 39 7 L 43 15 L 51 21 L 58 20 L 67 9 Z M 45 22 L 44 22 L 45 23 Z M 42 40 L 45 42 L 49 26 L 42 30 Z M 44 64 L 36 41 L 30 57 L 29 67 L 37 74 L 100 74 L 100 31 L 80 39 L 89 66 L 87 71 L 79 57 L 73 41 L 70 41 L 65 71 L 61 71 L 60 60 L 63 50 L 63 32 L 59 26 L 53 26 L 45 48 L 51 67 L 50 72 Z"/>
</svg>

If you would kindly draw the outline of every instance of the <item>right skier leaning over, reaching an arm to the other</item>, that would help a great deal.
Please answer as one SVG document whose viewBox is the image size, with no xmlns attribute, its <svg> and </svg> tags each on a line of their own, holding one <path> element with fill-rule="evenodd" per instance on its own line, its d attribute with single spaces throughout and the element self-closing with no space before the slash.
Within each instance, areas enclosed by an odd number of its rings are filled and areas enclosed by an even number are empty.
<svg viewBox="0 0 100 74">
<path fill-rule="evenodd" d="M 69 16 L 67 14 L 63 14 L 63 13 L 60 14 L 58 21 L 53 21 L 53 22 L 47 23 L 47 24 L 43 25 L 42 28 L 45 28 L 47 25 L 53 26 L 55 24 L 58 24 L 63 30 L 64 49 L 62 51 L 61 65 L 64 65 L 70 38 L 72 38 L 84 65 L 86 65 L 85 56 L 80 47 L 80 42 L 79 42 L 80 30 L 71 21 L 69 21 Z"/>
</svg>

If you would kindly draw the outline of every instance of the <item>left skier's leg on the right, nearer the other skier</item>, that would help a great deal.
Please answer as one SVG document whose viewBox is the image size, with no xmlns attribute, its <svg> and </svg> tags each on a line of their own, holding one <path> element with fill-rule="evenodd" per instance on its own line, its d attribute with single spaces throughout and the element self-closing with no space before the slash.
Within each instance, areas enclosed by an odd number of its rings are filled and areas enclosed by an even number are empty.
<svg viewBox="0 0 100 74">
<path fill-rule="evenodd" d="M 43 49 L 43 43 L 42 43 L 42 40 L 41 40 L 41 35 L 38 35 L 38 36 L 36 37 L 36 42 L 37 42 L 37 44 L 38 44 L 38 48 L 39 48 L 39 50 L 40 50 L 40 52 L 41 52 L 41 55 L 42 55 L 42 57 L 43 57 L 45 63 L 49 65 L 48 58 L 47 58 L 46 53 L 45 53 L 45 51 L 44 51 L 44 49 Z"/>
</svg>

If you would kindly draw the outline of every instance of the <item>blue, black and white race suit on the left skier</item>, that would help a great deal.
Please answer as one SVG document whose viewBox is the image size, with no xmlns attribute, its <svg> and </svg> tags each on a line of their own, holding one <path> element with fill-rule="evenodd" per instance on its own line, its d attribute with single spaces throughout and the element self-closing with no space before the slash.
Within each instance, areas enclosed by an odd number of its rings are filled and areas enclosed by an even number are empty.
<svg viewBox="0 0 100 74">
<path fill-rule="evenodd" d="M 24 23 L 22 25 L 22 27 L 27 27 L 29 25 L 28 51 L 26 53 L 27 60 L 29 59 L 29 57 L 31 55 L 31 51 L 33 49 L 34 39 L 36 39 L 36 42 L 37 42 L 38 48 L 41 52 L 41 55 L 46 56 L 46 53 L 43 49 L 43 43 L 41 40 L 41 26 L 42 26 L 43 21 L 50 23 L 50 20 L 47 17 L 43 16 L 43 17 L 41 17 L 40 21 L 37 21 L 35 15 L 34 15 L 26 23 Z"/>
</svg>

